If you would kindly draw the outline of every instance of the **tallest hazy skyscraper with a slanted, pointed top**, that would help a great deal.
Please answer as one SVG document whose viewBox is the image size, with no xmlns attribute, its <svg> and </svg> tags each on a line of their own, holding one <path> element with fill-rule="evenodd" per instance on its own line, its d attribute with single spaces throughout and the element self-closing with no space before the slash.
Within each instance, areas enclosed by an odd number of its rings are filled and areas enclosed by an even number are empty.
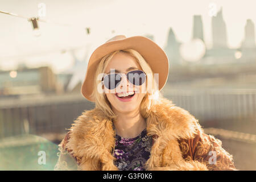
<svg viewBox="0 0 256 182">
<path fill-rule="evenodd" d="M 212 39 L 213 48 L 227 47 L 226 23 L 222 16 L 222 8 L 216 16 L 212 16 Z"/>
</svg>

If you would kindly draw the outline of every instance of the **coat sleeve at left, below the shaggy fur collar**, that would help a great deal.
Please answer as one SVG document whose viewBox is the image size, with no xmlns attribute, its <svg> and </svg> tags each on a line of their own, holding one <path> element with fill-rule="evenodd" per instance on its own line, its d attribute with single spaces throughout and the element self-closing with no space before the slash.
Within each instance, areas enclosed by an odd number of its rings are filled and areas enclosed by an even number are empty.
<svg viewBox="0 0 256 182">
<path fill-rule="evenodd" d="M 67 135 L 65 135 L 65 138 L 59 144 L 59 159 L 57 160 L 57 163 L 55 165 L 55 171 L 76 171 L 79 169 L 78 159 L 72 154 L 69 154 L 69 152 L 71 152 L 72 150 L 69 150 L 66 147 L 70 132 L 71 131 L 69 131 Z"/>
</svg>

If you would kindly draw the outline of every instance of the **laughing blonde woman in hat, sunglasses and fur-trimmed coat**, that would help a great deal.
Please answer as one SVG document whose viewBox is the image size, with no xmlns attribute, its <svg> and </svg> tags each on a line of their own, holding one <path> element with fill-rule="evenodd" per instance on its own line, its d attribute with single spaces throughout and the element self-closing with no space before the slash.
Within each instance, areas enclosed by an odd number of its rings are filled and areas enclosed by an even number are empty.
<svg viewBox="0 0 256 182">
<path fill-rule="evenodd" d="M 166 53 L 143 36 L 115 36 L 90 56 L 81 92 L 96 107 L 72 124 L 56 170 L 236 170 L 221 141 L 159 92 Z"/>
</svg>

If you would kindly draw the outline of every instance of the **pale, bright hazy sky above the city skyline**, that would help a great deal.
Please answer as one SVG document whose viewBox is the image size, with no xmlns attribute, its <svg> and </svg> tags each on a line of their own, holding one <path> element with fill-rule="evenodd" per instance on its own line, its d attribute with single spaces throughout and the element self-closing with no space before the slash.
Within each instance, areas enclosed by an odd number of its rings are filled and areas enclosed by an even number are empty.
<svg viewBox="0 0 256 182">
<path fill-rule="evenodd" d="M 55 73 L 64 72 L 74 59 L 63 50 L 75 48 L 81 60 L 86 48 L 90 56 L 106 40 L 120 34 L 154 35 L 154 41 L 164 48 L 170 27 L 177 40 L 187 43 L 192 38 L 193 15 L 202 16 L 205 44 L 210 48 L 211 3 L 217 10 L 222 7 L 230 48 L 240 46 L 246 19 L 256 23 L 255 0 L 1 0 L 0 11 L 38 16 L 40 3 L 46 5 L 42 19 L 53 23 L 39 22 L 38 37 L 27 19 L 0 13 L 0 68 L 15 69 L 18 63 L 26 63 L 29 67 L 50 65 Z M 91 34 L 86 34 L 85 27 L 90 27 Z"/>
</svg>

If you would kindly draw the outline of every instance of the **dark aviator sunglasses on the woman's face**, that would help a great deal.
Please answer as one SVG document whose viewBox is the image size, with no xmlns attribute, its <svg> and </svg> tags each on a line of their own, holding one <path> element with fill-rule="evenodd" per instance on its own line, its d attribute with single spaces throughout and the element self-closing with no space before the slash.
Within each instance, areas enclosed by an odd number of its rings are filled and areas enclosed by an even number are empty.
<svg viewBox="0 0 256 182">
<path fill-rule="evenodd" d="M 130 71 L 126 73 L 126 77 L 133 85 L 142 85 L 146 80 L 146 73 L 141 70 Z M 104 76 L 101 80 L 107 89 L 115 89 L 120 84 L 122 79 L 121 73 L 110 73 Z"/>
</svg>

